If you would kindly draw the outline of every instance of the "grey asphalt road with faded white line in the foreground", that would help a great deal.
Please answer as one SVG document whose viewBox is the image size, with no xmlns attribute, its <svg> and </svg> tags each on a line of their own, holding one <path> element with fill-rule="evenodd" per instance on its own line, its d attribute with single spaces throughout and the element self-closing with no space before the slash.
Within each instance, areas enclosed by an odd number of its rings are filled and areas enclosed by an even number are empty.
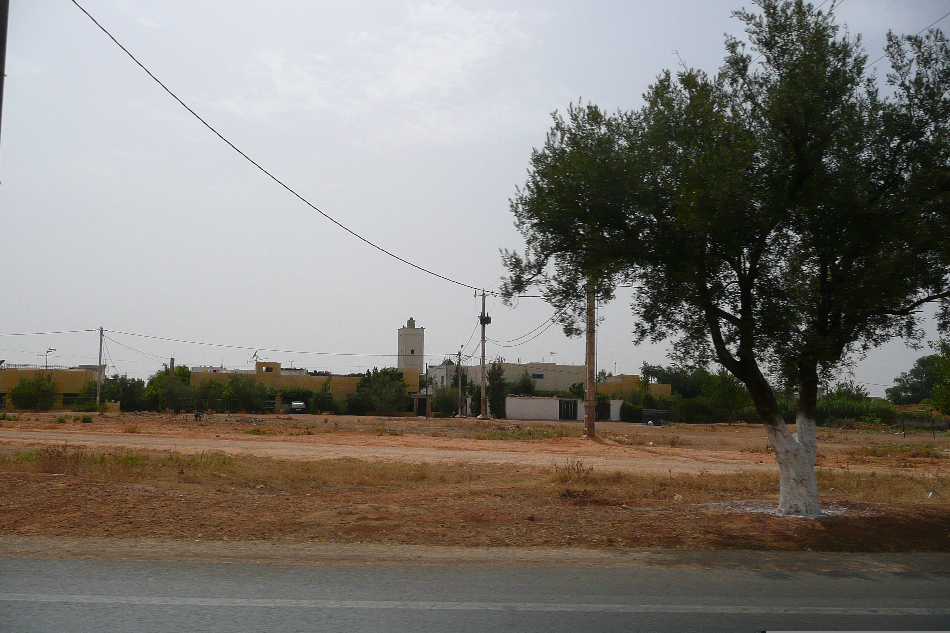
<svg viewBox="0 0 950 633">
<path fill-rule="evenodd" d="M 0 559 L 0 631 L 950 629 L 950 573 Z"/>
</svg>

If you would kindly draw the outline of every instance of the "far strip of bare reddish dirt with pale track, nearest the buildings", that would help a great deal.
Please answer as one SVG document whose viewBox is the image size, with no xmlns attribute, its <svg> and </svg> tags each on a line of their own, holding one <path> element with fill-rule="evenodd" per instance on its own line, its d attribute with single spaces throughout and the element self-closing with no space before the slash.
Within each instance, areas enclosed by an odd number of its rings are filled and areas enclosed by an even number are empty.
<svg viewBox="0 0 950 633">
<path fill-rule="evenodd" d="M 91 423 L 82 423 L 81 417 L 46 413 L 0 420 L 0 442 L 215 451 L 276 459 L 465 460 L 545 467 L 565 456 L 580 456 L 598 468 L 656 473 L 776 470 L 761 424 L 649 427 L 599 422 L 599 438 L 582 440 L 580 422 L 309 415 L 213 415 L 196 420 L 189 415 L 142 413 L 93 416 Z M 950 457 L 946 432 L 936 438 L 913 432 L 904 438 L 883 428 L 823 430 L 818 443 L 818 464 L 845 470 L 935 472 L 943 463 L 940 457 Z"/>
</svg>

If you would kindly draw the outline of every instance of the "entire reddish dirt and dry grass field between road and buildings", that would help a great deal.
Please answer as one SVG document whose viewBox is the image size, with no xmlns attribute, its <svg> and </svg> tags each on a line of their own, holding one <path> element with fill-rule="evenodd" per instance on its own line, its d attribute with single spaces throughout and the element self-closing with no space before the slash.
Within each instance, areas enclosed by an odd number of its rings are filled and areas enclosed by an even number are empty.
<svg viewBox="0 0 950 633">
<path fill-rule="evenodd" d="M 0 537 L 950 551 L 947 434 L 823 432 L 811 519 L 758 425 L 61 416 L 3 420 Z"/>
</svg>

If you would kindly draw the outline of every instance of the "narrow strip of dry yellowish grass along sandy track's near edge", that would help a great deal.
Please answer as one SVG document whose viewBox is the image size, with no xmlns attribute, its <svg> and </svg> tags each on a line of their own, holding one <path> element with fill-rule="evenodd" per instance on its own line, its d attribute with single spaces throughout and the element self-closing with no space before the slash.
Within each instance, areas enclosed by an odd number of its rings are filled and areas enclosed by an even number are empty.
<svg viewBox="0 0 950 633">
<path fill-rule="evenodd" d="M 778 475 L 770 472 L 668 475 L 598 471 L 582 459 L 568 458 L 549 469 L 518 469 L 518 475 L 497 467 L 451 464 L 409 464 L 337 459 L 311 462 L 235 458 L 202 453 L 93 454 L 52 446 L 0 456 L 0 472 L 55 473 L 116 483 L 158 486 L 180 484 L 227 485 L 255 489 L 260 484 L 278 490 L 385 490 L 478 483 L 514 485 L 529 497 L 546 497 L 551 486 L 561 491 L 582 486 L 589 495 L 616 499 L 627 505 L 709 503 L 738 499 L 774 499 Z M 514 472 L 514 471 L 512 471 Z M 950 501 L 950 477 L 900 473 L 860 473 L 820 469 L 819 488 L 825 500 L 875 504 L 931 504 Z M 571 493 L 567 493 L 570 495 Z"/>
</svg>

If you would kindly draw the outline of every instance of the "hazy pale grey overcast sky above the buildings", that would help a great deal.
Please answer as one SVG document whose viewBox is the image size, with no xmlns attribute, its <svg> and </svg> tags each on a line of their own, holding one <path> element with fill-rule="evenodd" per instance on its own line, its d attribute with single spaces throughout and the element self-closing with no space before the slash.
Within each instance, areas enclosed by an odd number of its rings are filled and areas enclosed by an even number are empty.
<svg viewBox="0 0 950 633">
<path fill-rule="evenodd" d="M 495 288 L 522 246 L 508 198 L 550 113 L 641 104 L 678 64 L 714 72 L 739 0 L 370 2 L 81 0 L 165 84 L 327 214 L 418 265 Z M 746 2 L 749 7 L 750 3 Z M 871 59 L 946 0 L 845 0 Z M 946 23 L 940 27 L 947 28 Z M 885 68 L 879 63 L 879 75 Z M 0 333 L 106 329 L 261 351 L 334 372 L 394 363 L 425 326 L 427 360 L 469 341 L 472 292 L 390 259 L 306 207 L 215 138 L 68 0 L 13 0 L 0 148 Z M 667 363 L 631 343 L 630 297 L 603 307 L 599 368 Z M 541 325 L 538 299 L 488 299 L 489 336 Z M 247 367 L 254 351 L 108 333 L 119 372 Z M 472 337 L 468 351 L 475 349 Z M 0 359 L 95 363 L 91 333 L 0 337 Z M 126 346 L 123 346 L 126 345 Z M 508 362 L 583 363 L 557 326 Z M 893 342 L 856 369 L 890 384 L 921 352 Z M 41 359 L 39 362 L 43 362 Z M 872 394 L 883 386 L 868 384 Z"/>
</svg>

